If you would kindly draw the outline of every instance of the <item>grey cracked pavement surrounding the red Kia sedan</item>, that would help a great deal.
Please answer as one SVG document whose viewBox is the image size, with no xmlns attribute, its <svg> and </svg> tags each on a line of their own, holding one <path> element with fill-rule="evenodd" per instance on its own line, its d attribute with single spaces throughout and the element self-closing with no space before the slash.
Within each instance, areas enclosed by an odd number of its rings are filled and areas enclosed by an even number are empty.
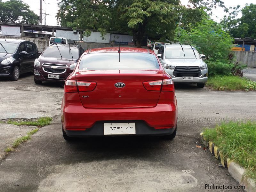
<svg viewBox="0 0 256 192">
<path fill-rule="evenodd" d="M 198 137 L 203 127 L 214 127 L 222 120 L 256 120 L 256 92 L 175 85 L 178 130 L 174 140 L 108 137 L 66 142 L 58 109 L 63 94 L 61 85 L 40 85 L 47 91 L 16 89 L 25 85 L 35 86 L 33 76 L 24 76 L 18 82 L 0 81 L 4 87 L 0 90 L 0 102 L 9 106 L 4 114 L 0 105 L 0 119 L 9 118 L 6 116 L 10 114 L 14 118 L 57 118 L 0 163 L 0 175 L 4 175 L 0 177 L 0 191 L 243 191 L 205 189 L 205 184 L 239 184 L 218 167 L 219 161 L 209 151 L 196 148 L 194 142 L 200 143 Z M 15 105 L 11 105 L 12 93 Z M 6 101 L 8 95 L 10 99 Z M 21 107 L 17 107 L 20 103 Z"/>
</svg>

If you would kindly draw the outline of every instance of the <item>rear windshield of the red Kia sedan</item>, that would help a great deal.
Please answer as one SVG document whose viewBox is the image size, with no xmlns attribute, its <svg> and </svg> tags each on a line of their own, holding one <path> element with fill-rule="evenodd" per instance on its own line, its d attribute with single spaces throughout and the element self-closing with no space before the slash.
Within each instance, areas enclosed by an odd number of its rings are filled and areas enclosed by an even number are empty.
<svg viewBox="0 0 256 192">
<path fill-rule="evenodd" d="M 156 56 L 149 53 L 121 52 L 120 62 L 117 52 L 90 53 L 84 55 L 79 64 L 83 70 L 111 70 L 111 69 L 135 69 L 150 70 L 159 69 Z"/>
</svg>

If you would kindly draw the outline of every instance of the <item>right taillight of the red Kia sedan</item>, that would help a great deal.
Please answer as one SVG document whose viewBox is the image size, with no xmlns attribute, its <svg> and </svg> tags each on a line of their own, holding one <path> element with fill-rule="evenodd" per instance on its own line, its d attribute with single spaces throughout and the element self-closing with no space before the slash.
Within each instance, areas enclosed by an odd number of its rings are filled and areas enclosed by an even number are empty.
<svg viewBox="0 0 256 192">
<path fill-rule="evenodd" d="M 174 85 L 172 79 L 143 82 L 148 91 L 173 91 Z"/>
</svg>

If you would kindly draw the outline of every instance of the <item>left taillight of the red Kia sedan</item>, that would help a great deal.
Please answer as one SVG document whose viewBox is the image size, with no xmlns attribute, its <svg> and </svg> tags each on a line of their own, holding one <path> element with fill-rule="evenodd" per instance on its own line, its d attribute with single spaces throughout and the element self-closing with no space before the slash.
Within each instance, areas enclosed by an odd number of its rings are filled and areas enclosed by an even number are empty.
<svg viewBox="0 0 256 192">
<path fill-rule="evenodd" d="M 85 81 L 75 81 L 67 80 L 65 83 L 65 93 L 68 92 L 84 92 L 84 91 L 93 91 L 96 87 L 95 82 L 85 82 Z"/>
</svg>

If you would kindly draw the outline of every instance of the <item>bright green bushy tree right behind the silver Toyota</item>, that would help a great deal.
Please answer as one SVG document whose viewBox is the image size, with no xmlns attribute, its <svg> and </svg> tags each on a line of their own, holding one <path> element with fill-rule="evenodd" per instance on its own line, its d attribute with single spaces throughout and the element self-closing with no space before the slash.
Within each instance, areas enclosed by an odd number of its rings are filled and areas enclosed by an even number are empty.
<svg viewBox="0 0 256 192">
<path fill-rule="evenodd" d="M 178 40 L 191 44 L 210 60 L 227 60 L 233 38 L 217 22 L 204 19 L 187 30 L 180 29 Z"/>
</svg>

